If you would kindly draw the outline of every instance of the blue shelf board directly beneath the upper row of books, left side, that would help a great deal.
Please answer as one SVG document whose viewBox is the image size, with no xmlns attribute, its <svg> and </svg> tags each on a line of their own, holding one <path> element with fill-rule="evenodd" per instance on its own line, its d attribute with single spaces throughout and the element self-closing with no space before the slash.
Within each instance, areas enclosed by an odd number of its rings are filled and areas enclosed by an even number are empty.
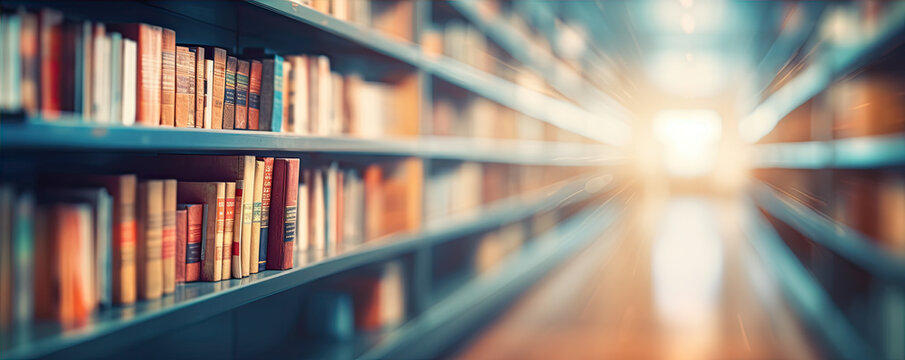
<svg viewBox="0 0 905 360">
<path fill-rule="evenodd" d="M 621 162 L 612 148 L 579 143 L 420 137 L 314 137 L 242 130 L 104 126 L 79 119 L 0 125 L 0 150 L 157 151 L 164 153 L 331 153 L 413 156 L 526 165 L 597 166 Z"/>
</svg>

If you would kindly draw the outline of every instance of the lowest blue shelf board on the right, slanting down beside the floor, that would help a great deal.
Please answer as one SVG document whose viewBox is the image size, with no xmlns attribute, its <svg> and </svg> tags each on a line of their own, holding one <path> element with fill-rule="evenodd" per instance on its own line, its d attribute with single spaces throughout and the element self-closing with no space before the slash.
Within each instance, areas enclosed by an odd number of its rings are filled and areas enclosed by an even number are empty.
<svg viewBox="0 0 905 360">
<path fill-rule="evenodd" d="M 750 200 L 744 211 L 742 231 L 748 243 L 808 328 L 839 358 L 879 359 Z"/>
</svg>

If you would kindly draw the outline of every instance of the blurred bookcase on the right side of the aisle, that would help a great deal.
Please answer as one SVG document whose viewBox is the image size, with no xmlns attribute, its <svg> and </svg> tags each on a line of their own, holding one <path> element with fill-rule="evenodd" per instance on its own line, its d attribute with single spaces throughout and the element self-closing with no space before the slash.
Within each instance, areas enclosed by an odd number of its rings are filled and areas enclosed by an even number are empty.
<svg viewBox="0 0 905 360">
<path fill-rule="evenodd" d="M 755 246 L 841 357 L 903 351 L 873 329 L 903 324 L 905 274 L 905 4 L 877 5 L 802 6 L 820 21 L 781 32 L 738 123 L 753 144 Z"/>
</svg>

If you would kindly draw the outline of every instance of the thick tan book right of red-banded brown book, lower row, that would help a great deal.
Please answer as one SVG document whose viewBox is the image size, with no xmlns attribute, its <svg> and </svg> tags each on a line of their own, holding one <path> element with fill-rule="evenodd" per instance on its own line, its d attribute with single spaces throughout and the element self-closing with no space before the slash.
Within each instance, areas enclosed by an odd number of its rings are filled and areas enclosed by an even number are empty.
<svg viewBox="0 0 905 360">
<path fill-rule="evenodd" d="M 137 193 L 135 255 L 138 297 L 157 299 L 163 295 L 163 181 L 140 181 Z"/>
</svg>

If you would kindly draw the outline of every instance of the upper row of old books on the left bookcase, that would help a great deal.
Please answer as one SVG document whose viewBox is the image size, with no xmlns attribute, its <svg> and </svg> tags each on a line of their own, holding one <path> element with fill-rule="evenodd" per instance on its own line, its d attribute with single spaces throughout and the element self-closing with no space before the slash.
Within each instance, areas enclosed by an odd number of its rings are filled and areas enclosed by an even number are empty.
<svg viewBox="0 0 905 360">
<path fill-rule="evenodd" d="M 0 111 L 47 121 L 378 137 L 403 111 L 391 85 L 331 72 L 326 56 L 234 56 L 148 24 L 20 9 L 0 18 L 0 48 Z"/>
</svg>

